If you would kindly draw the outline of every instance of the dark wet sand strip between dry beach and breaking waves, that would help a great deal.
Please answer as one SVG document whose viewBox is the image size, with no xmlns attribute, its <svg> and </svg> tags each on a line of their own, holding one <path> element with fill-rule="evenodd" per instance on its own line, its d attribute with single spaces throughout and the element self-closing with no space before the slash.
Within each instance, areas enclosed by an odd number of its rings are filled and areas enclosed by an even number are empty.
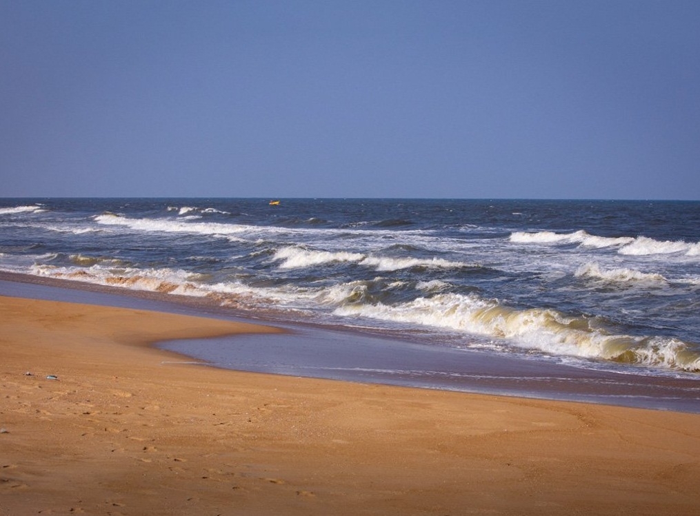
<svg viewBox="0 0 700 516">
<path fill-rule="evenodd" d="M 253 318 L 206 298 L 134 291 L 92 283 L 0 273 L 0 292 L 54 301 L 158 310 L 181 315 L 273 325 L 283 336 L 179 339 L 158 344 L 209 365 L 360 383 L 444 391 L 577 401 L 614 406 L 700 413 L 700 381 L 615 373 L 456 350 L 312 324 Z M 223 350 L 230 351 L 224 352 Z"/>
</svg>

